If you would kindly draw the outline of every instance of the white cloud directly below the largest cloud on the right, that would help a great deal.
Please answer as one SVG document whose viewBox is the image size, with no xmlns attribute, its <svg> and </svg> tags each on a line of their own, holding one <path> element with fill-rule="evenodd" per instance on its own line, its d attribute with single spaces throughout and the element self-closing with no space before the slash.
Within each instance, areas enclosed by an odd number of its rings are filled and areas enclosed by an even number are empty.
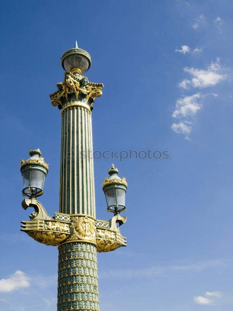
<svg viewBox="0 0 233 311">
<path fill-rule="evenodd" d="M 203 95 L 201 93 L 197 93 L 191 96 L 178 98 L 176 100 L 176 109 L 173 111 L 172 117 L 179 118 L 195 115 L 202 106 L 197 100 L 202 97 Z"/>
</svg>

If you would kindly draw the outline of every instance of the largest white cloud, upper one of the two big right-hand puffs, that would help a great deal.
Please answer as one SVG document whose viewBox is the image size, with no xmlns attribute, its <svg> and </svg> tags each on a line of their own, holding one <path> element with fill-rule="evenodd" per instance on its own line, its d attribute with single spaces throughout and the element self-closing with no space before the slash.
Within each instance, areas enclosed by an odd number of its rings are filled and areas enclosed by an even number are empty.
<svg viewBox="0 0 233 311">
<path fill-rule="evenodd" d="M 199 88 L 214 86 L 228 77 L 224 73 L 226 69 L 220 64 L 219 58 L 216 59 L 215 63 L 212 62 L 208 65 L 206 70 L 185 67 L 184 71 L 188 72 L 193 78 L 191 80 L 184 79 L 179 83 L 179 86 L 183 89 L 188 89 L 190 86 Z"/>
</svg>

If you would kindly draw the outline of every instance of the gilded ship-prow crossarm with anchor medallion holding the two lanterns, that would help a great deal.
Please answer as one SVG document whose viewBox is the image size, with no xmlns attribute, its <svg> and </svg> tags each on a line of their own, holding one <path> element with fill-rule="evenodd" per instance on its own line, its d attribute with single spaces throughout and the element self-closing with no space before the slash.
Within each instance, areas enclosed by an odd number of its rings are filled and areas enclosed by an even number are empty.
<svg viewBox="0 0 233 311">
<path fill-rule="evenodd" d="M 43 205 L 35 199 L 24 199 L 24 209 L 34 207 L 30 220 L 21 221 L 21 231 L 45 245 L 59 246 L 68 242 L 87 242 L 97 247 L 97 252 L 110 252 L 126 246 L 117 222 L 126 222 L 126 217 L 115 215 L 109 221 L 95 220 L 88 215 L 55 213 L 50 217 Z M 68 221 L 67 221 L 68 220 Z"/>
</svg>

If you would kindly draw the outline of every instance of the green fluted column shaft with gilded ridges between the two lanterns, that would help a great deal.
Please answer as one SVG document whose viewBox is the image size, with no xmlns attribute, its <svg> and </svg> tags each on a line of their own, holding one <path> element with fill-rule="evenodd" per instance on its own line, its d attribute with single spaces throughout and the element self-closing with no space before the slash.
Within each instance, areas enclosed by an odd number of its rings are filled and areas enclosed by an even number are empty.
<svg viewBox="0 0 233 311">
<path fill-rule="evenodd" d="M 62 110 L 60 213 L 95 218 L 91 112 L 82 106 Z"/>
</svg>

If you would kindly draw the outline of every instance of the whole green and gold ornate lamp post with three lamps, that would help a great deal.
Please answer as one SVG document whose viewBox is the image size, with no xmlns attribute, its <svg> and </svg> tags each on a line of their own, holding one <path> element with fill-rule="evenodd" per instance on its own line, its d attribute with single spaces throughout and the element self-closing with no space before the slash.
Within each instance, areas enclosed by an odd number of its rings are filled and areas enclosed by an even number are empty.
<svg viewBox="0 0 233 311">
<path fill-rule="evenodd" d="M 91 83 L 82 76 L 91 66 L 85 50 L 73 49 L 62 55 L 66 71 L 63 83 L 50 95 L 51 103 L 61 110 L 62 143 L 60 173 L 60 207 L 50 217 L 37 197 L 43 194 L 48 164 L 39 149 L 30 150 L 30 158 L 21 160 L 24 180 L 22 207 L 34 207 L 30 220 L 22 221 L 22 231 L 36 241 L 58 248 L 57 311 L 99 310 L 97 252 L 126 246 L 118 225 L 126 222 L 126 179 L 118 176 L 112 165 L 103 191 L 109 221 L 96 220 L 91 115 L 94 99 L 102 95 L 103 84 Z"/>
</svg>

